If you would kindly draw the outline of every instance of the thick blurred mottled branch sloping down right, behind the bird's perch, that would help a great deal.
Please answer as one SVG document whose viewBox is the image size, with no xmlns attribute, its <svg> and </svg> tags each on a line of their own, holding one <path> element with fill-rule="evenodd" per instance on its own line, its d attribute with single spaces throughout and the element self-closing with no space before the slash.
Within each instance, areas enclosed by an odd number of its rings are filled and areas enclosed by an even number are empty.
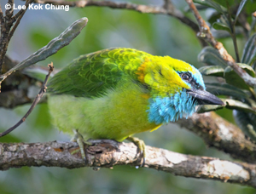
<svg viewBox="0 0 256 194">
<path fill-rule="evenodd" d="M 224 120 L 215 112 L 195 113 L 188 119 L 178 120 L 177 123 L 199 135 L 207 145 L 229 153 L 236 159 L 256 163 L 256 145 L 247 140 L 240 128 Z"/>
</svg>

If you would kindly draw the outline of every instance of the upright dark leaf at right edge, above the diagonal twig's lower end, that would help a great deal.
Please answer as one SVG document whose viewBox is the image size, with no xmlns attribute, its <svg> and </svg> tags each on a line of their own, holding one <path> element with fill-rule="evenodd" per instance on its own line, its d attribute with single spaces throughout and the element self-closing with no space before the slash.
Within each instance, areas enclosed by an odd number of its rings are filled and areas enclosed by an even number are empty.
<svg viewBox="0 0 256 194">
<path fill-rule="evenodd" d="M 241 62 L 252 65 L 256 57 L 256 33 L 247 40 L 241 55 Z"/>
</svg>

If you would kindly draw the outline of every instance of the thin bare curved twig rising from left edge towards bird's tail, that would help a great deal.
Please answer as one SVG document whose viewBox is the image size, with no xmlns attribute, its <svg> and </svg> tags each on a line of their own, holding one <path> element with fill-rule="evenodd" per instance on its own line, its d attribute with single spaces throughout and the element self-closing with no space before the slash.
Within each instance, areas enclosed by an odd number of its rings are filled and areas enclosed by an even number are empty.
<svg viewBox="0 0 256 194">
<path fill-rule="evenodd" d="M 21 123 L 25 122 L 26 117 L 28 117 L 30 115 L 30 113 L 32 112 L 32 110 L 34 109 L 34 107 L 38 104 L 39 100 L 43 97 L 44 93 L 46 92 L 46 83 L 49 80 L 49 75 L 50 73 L 54 70 L 54 66 L 53 63 L 48 64 L 49 66 L 49 72 L 46 75 L 45 79 L 44 79 L 44 83 L 42 85 L 42 88 L 40 89 L 37 97 L 35 98 L 35 100 L 32 103 L 32 106 L 29 108 L 29 110 L 26 112 L 25 116 L 22 117 L 20 119 L 20 121 L 18 123 L 16 123 L 13 127 L 7 129 L 6 131 L 4 131 L 3 133 L 0 134 L 0 137 L 3 137 L 6 134 L 9 134 L 10 132 L 12 132 L 13 130 L 15 130 L 15 128 L 19 127 Z"/>
</svg>

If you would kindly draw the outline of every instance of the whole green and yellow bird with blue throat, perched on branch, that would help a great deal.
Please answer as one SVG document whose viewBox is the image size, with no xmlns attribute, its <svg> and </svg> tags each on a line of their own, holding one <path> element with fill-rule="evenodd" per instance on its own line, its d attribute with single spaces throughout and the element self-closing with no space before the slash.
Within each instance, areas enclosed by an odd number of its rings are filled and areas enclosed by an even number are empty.
<svg viewBox="0 0 256 194">
<path fill-rule="evenodd" d="M 134 134 L 190 117 L 198 105 L 224 105 L 206 91 L 194 66 L 170 56 L 134 48 L 108 48 L 84 54 L 49 80 L 52 123 L 83 140 L 134 140 Z M 85 156 L 84 159 L 86 160 Z"/>
</svg>

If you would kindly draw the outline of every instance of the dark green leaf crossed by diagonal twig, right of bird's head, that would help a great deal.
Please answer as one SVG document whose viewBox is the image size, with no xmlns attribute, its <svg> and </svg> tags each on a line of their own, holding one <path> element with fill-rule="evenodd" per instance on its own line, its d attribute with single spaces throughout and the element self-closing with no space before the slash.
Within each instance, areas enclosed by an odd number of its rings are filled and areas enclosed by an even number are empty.
<svg viewBox="0 0 256 194">
<path fill-rule="evenodd" d="M 247 71 L 247 73 L 251 77 L 255 77 L 255 71 L 253 71 L 253 68 L 251 66 L 243 63 L 237 63 L 237 65 L 240 66 L 243 70 Z M 226 67 L 226 69 L 224 70 L 224 78 L 226 80 L 226 83 L 229 83 L 230 85 L 236 86 L 237 88 L 249 90 L 249 86 L 247 85 L 247 83 L 245 83 L 244 80 L 239 77 L 230 66 Z"/>
</svg>

